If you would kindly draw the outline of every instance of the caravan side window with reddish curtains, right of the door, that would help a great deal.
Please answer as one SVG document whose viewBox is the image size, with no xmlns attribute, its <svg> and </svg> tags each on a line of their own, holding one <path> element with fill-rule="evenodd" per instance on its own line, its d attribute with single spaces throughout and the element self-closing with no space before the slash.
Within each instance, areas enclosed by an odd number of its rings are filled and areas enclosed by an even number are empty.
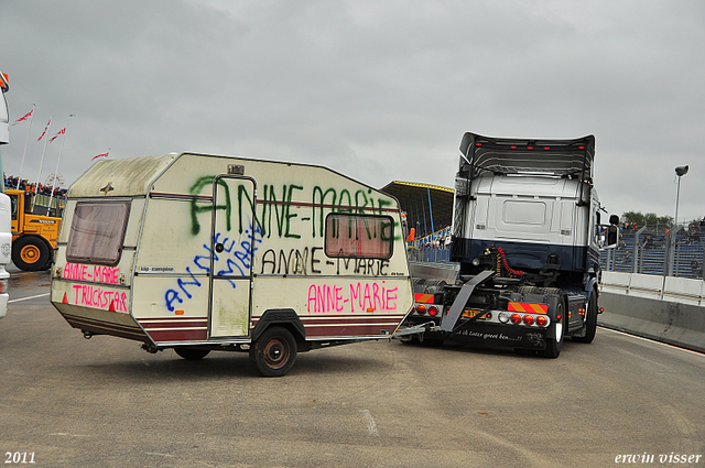
<svg viewBox="0 0 705 468">
<path fill-rule="evenodd" d="M 326 217 L 326 255 L 389 259 L 393 226 L 389 216 L 332 213 Z"/>
</svg>

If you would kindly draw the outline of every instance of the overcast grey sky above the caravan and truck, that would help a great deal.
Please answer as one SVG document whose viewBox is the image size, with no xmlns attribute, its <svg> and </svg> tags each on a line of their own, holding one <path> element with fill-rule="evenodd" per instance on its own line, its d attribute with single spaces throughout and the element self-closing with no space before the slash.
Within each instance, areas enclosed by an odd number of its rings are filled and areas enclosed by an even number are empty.
<svg viewBox="0 0 705 468">
<path fill-rule="evenodd" d="M 22 175 L 195 151 L 452 187 L 463 133 L 595 134 L 610 213 L 705 216 L 702 0 L 0 0 Z M 76 117 L 69 119 L 69 115 Z M 18 175 L 28 123 L 10 130 Z M 54 173 L 50 144 L 41 179 Z"/>
</svg>

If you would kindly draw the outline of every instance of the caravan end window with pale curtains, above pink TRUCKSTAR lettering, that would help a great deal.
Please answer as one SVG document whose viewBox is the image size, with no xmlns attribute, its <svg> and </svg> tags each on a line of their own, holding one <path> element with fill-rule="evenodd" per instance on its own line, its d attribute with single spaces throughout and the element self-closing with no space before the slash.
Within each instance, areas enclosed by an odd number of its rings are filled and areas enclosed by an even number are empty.
<svg viewBox="0 0 705 468">
<path fill-rule="evenodd" d="M 129 214 L 129 200 L 78 202 L 68 232 L 66 260 L 117 265 Z"/>
</svg>

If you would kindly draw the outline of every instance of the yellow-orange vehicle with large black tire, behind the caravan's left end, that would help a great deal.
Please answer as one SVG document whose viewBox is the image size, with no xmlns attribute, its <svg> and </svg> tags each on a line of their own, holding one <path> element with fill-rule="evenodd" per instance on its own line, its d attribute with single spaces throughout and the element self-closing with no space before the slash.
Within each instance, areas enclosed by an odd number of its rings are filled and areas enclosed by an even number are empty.
<svg viewBox="0 0 705 468">
<path fill-rule="evenodd" d="M 12 263 L 24 271 L 48 269 L 56 249 L 63 200 L 15 189 L 7 189 L 6 194 L 12 203 Z"/>
</svg>

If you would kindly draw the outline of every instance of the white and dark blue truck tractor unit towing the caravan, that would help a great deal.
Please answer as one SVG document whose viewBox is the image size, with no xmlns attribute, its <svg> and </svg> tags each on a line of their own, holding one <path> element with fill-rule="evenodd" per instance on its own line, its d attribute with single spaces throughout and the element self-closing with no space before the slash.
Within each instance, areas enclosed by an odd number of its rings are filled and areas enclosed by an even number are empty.
<svg viewBox="0 0 705 468">
<path fill-rule="evenodd" d="M 590 342 L 601 239 L 594 155 L 593 135 L 465 133 L 451 251 L 458 280 L 416 281 L 416 312 L 399 336 L 413 339 L 423 329 L 416 339 L 456 338 L 549 358 L 565 337 Z"/>
</svg>

